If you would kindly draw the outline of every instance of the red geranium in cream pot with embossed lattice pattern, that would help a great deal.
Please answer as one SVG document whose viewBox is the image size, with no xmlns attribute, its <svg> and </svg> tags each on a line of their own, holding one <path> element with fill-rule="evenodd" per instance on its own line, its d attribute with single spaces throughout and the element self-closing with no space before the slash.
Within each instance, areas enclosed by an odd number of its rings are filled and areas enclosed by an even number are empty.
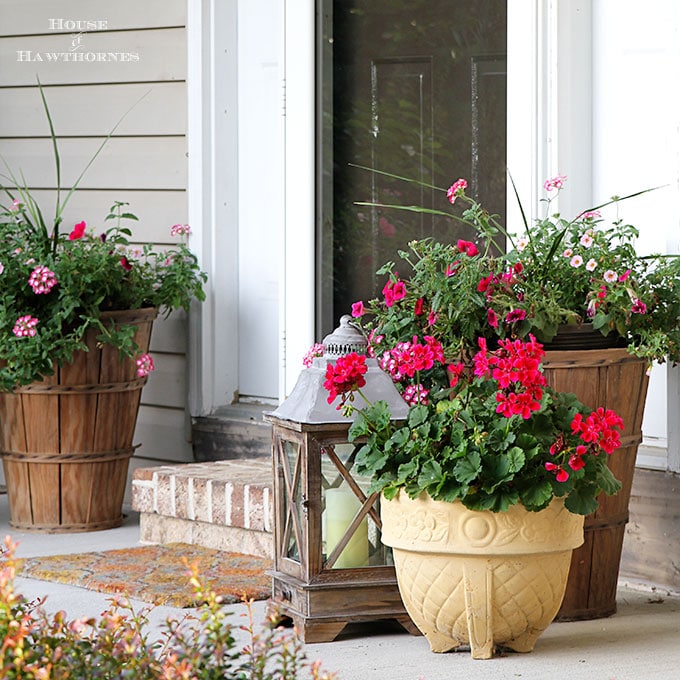
<svg viewBox="0 0 680 680">
<path fill-rule="evenodd" d="M 531 335 L 495 349 L 480 338 L 470 362 L 448 359 L 433 336 L 400 343 L 386 368 L 408 381 L 411 406 L 397 424 L 386 402 L 355 402 L 364 356 L 327 367 L 328 401 L 356 413 L 355 468 L 382 493 L 382 540 L 433 651 L 533 649 L 560 607 L 583 516 L 620 488 L 605 459 L 621 418 L 553 390 L 543 356 Z"/>
</svg>

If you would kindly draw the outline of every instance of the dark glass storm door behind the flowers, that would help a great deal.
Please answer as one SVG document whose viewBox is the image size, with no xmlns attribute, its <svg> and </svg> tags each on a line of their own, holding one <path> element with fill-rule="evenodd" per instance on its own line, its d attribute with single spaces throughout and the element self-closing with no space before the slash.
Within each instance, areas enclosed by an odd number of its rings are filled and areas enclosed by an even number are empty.
<svg viewBox="0 0 680 680">
<path fill-rule="evenodd" d="M 472 238 L 446 217 L 356 205 L 454 208 L 446 189 L 503 218 L 506 0 L 320 0 L 319 327 L 380 293 L 376 270 L 424 237 Z M 397 180 L 372 170 L 406 177 Z M 457 206 L 456 206 L 457 207 Z M 407 275 L 407 271 L 400 271 Z"/>
</svg>

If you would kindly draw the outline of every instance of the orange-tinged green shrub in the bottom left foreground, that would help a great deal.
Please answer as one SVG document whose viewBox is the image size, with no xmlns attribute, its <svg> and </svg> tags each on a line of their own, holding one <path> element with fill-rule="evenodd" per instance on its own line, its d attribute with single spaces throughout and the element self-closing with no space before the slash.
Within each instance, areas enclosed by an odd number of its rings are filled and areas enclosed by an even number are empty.
<svg viewBox="0 0 680 680">
<path fill-rule="evenodd" d="M 52 616 L 44 600 L 27 602 L 15 590 L 16 544 L 5 541 L 0 567 L 0 677 L 5 680 L 332 680 L 319 662 L 305 658 L 302 644 L 278 626 L 273 611 L 262 627 L 235 625 L 215 593 L 207 591 L 196 568 L 187 579 L 203 601 L 182 620 L 169 619 L 151 635 L 150 610 L 136 612 L 126 600 L 112 599 L 99 617 Z M 248 642 L 237 642 L 237 631 Z"/>
</svg>

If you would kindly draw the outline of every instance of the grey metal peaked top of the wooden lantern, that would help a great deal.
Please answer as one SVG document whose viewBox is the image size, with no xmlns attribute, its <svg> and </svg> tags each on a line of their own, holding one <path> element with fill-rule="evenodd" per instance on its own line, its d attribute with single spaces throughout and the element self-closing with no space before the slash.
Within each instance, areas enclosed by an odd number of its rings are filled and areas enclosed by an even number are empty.
<svg viewBox="0 0 680 680">
<path fill-rule="evenodd" d="M 368 342 L 352 323 L 352 318 L 344 315 L 340 319 L 340 325 L 324 338 L 323 348 L 323 356 L 315 357 L 312 365 L 300 373 L 290 396 L 270 414 L 271 418 L 305 424 L 350 423 L 354 419 L 348 418 L 337 409 L 340 397 L 336 397 L 331 404 L 328 403 L 328 391 L 323 386 L 326 367 L 329 363 L 334 363 L 338 357 L 351 352 L 365 355 L 368 351 Z M 366 385 L 361 388 L 362 394 L 371 403 L 386 401 L 392 419 L 405 420 L 408 416 L 408 404 L 402 399 L 392 378 L 380 368 L 373 357 L 366 358 L 366 366 L 368 371 L 364 376 Z M 364 405 L 363 398 L 357 395 L 357 408 Z"/>
</svg>

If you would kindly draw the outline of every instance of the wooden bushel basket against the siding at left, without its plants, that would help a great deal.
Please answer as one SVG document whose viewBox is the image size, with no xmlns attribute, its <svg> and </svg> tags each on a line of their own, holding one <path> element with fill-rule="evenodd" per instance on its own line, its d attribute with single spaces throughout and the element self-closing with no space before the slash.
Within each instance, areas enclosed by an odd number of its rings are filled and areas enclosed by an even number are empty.
<svg viewBox="0 0 680 680">
<path fill-rule="evenodd" d="M 156 309 L 106 312 L 137 327 L 148 351 Z M 134 358 L 97 346 L 43 382 L 0 392 L 0 453 L 10 525 L 22 531 L 97 531 L 120 526 L 132 438 L 146 377 Z"/>
</svg>

